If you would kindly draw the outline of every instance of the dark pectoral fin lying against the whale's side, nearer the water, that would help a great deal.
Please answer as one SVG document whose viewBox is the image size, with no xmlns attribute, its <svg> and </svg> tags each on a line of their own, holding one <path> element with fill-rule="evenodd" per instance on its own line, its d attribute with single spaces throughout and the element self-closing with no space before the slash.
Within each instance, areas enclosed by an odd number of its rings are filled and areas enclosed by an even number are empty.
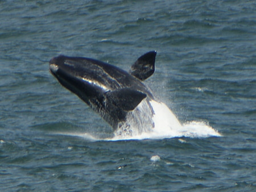
<svg viewBox="0 0 256 192">
<path fill-rule="evenodd" d="M 105 93 L 108 106 L 114 105 L 125 111 L 134 110 L 134 108 L 146 97 L 147 95 L 141 91 L 130 88 L 123 88 Z"/>
</svg>

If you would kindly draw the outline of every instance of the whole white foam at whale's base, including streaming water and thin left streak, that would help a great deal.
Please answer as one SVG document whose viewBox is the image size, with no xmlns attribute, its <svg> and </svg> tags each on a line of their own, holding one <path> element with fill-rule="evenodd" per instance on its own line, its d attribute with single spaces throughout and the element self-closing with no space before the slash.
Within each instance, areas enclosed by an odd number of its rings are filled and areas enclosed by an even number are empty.
<svg viewBox="0 0 256 192">
<path fill-rule="evenodd" d="M 123 126 L 114 132 L 114 137 L 102 139 L 90 133 L 61 133 L 63 135 L 79 136 L 85 139 L 97 140 L 141 140 L 168 139 L 173 137 L 210 137 L 221 136 L 205 122 L 186 122 L 181 124 L 174 113 L 162 102 L 150 101 L 152 110 L 147 102 L 139 106 L 127 116 Z M 143 117 L 143 118 L 142 118 Z M 150 118 L 149 118 L 150 117 Z M 154 126 L 153 126 L 154 125 Z M 183 141 L 183 140 L 182 140 Z"/>
</svg>

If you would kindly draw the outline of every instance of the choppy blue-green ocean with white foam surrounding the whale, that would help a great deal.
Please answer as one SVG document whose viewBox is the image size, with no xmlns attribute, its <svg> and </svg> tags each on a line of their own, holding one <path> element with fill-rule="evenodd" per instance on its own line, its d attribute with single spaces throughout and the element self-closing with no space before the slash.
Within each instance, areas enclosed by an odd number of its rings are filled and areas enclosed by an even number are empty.
<svg viewBox="0 0 256 192">
<path fill-rule="evenodd" d="M 255 1 L 0 1 L 0 18 L 1 191 L 256 190 Z M 145 84 L 171 111 L 153 103 L 158 130 L 133 137 L 49 73 L 152 50 Z"/>
</svg>

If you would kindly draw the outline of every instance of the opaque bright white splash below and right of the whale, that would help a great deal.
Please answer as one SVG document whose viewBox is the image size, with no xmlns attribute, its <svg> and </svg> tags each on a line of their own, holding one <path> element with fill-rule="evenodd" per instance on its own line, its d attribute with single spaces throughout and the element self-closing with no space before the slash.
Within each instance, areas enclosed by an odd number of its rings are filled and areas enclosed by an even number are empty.
<svg viewBox="0 0 256 192">
<path fill-rule="evenodd" d="M 150 105 L 154 110 L 152 121 L 154 127 L 147 131 L 138 132 L 135 126 L 130 127 L 130 132 L 133 134 L 120 134 L 119 130 L 115 132 L 115 136 L 106 140 L 129 140 L 129 139 L 166 139 L 172 137 L 210 137 L 221 136 L 216 130 L 204 122 L 187 122 L 181 124 L 174 113 L 162 102 L 150 101 Z M 147 111 L 144 105 L 139 105 L 142 108 L 140 111 Z M 143 110 L 144 109 L 144 110 Z M 142 115 L 142 114 L 140 114 Z M 143 118 L 141 118 L 143 119 Z M 150 126 L 150 124 L 147 124 Z"/>
</svg>

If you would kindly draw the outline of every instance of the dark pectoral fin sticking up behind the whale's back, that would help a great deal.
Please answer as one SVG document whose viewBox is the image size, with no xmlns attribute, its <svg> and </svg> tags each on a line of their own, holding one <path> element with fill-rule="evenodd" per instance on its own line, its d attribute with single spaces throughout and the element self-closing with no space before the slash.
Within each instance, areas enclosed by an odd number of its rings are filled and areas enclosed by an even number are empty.
<svg viewBox="0 0 256 192">
<path fill-rule="evenodd" d="M 131 66 L 130 74 L 143 81 L 155 72 L 156 51 L 150 51 L 139 57 Z"/>
</svg>

